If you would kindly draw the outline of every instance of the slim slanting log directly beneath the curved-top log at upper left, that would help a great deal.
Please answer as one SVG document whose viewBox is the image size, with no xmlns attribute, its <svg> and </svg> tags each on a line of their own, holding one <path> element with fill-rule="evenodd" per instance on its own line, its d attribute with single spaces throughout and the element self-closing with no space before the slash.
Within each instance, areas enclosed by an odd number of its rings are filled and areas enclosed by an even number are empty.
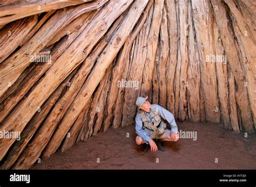
<svg viewBox="0 0 256 187">
<path fill-rule="evenodd" d="M 90 14 L 88 16 L 88 14 Z M 40 66 L 36 66 L 31 73 L 23 72 L 18 78 L 11 89 L 8 89 L 4 95 L 0 98 L 0 103 L 2 108 L 0 110 L 0 122 L 8 115 L 8 113 L 16 106 L 16 104 L 23 98 L 23 96 L 31 89 L 39 78 L 48 70 L 53 63 L 56 62 L 58 57 L 70 46 L 70 44 L 78 37 L 78 35 L 84 30 L 87 24 L 90 23 L 97 14 L 97 11 L 92 13 L 85 13 L 79 18 L 75 19 L 74 22 L 77 23 L 76 31 L 67 35 L 62 41 L 60 41 L 50 53 L 51 61 L 49 63 L 42 63 Z M 83 18 L 81 20 L 81 18 Z M 28 69 L 28 68 L 27 68 Z M 23 80 L 23 77 L 24 80 Z"/>
</svg>

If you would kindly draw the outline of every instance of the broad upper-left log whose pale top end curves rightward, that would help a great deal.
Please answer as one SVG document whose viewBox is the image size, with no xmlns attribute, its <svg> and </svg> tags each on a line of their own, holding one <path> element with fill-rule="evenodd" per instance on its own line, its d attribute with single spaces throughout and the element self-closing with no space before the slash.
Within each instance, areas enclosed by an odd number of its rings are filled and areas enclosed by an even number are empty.
<svg viewBox="0 0 256 187">
<path fill-rule="evenodd" d="M 62 28 L 68 25 L 73 19 L 97 8 L 98 5 L 90 6 L 82 4 L 79 6 L 66 8 L 56 11 L 55 15 L 26 42 L 14 55 L 6 59 L 0 66 L 0 96 L 9 88 L 9 82 L 14 84 L 22 71 L 31 63 L 31 56 L 39 54 L 46 44 L 58 33 Z M 104 25 L 104 23 L 103 23 Z M 104 28 L 104 27 L 103 27 Z"/>
</svg>

